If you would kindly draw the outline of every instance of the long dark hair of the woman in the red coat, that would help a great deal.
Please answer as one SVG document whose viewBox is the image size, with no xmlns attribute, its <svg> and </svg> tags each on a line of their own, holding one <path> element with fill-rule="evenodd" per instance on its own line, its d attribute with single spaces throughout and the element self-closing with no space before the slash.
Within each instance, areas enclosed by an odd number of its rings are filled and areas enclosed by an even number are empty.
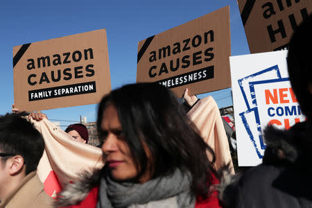
<svg viewBox="0 0 312 208">
<path fill-rule="evenodd" d="M 192 191 L 207 196 L 211 173 L 216 174 L 212 167 L 214 151 L 185 116 L 186 112 L 171 90 L 155 83 L 138 83 L 125 85 L 104 96 L 98 106 L 100 139 L 103 139 L 103 112 L 111 104 L 116 107 L 125 142 L 139 170 L 134 180 L 146 173 L 148 168 L 144 142 L 152 155 L 152 178 L 170 175 L 180 168 L 183 173 L 191 173 Z M 207 152 L 212 161 L 207 158 Z"/>
</svg>

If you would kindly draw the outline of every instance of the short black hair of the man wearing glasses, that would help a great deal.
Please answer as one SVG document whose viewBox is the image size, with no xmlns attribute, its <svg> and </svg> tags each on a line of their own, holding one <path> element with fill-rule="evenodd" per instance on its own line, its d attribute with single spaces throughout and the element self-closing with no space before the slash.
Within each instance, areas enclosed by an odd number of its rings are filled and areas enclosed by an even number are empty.
<svg viewBox="0 0 312 208">
<path fill-rule="evenodd" d="M 35 171 L 44 152 L 44 139 L 33 124 L 22 118 L 24 114 L 0 116 L 1 153 L 21 155 L 26 175 Z M 3 161 L 9 157 L 1 157 Z"/>
</svg>

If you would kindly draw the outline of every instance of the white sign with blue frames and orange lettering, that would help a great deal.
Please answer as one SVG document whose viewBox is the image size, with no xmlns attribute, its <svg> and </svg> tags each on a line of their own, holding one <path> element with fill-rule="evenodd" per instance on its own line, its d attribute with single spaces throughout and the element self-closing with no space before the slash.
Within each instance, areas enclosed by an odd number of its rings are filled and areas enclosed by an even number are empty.
<svg viewBox="0 0 312 208">
<path fill-rule="evenodd" d="M 229 58 L 239 166 L 261 163 L 266 125 L 290 128 L 304 121 L 288 80 L 287 51 Z"/>
</svg>

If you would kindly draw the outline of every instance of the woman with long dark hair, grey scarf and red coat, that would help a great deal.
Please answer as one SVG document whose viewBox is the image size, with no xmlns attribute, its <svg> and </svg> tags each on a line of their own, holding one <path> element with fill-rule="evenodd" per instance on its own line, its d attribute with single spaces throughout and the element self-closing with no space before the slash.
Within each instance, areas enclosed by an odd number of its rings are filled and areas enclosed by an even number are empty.
<svg viewBox="0 0 312 208">
<path fill-rule="evenodd" d="M 115 89 L 102 99 L 97 125 L 105 166 L 69 184 L 58 205 L 219 207 L 211 191 L 218 182 L 214 152 L 169 89 L 155 83 Z"/>
</svg>

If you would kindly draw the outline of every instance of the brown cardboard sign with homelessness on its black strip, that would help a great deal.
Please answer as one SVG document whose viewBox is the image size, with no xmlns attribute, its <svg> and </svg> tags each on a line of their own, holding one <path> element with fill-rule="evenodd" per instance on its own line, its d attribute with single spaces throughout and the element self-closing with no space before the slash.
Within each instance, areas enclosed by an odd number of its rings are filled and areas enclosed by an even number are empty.
<svg viewBox="0 0 312 208">
<path fill-rule="evenodd" d="M 182 96 L 231 86 L 229 6 L 139 42 L 137 82 L 155 82 Z"/>
</svg>

